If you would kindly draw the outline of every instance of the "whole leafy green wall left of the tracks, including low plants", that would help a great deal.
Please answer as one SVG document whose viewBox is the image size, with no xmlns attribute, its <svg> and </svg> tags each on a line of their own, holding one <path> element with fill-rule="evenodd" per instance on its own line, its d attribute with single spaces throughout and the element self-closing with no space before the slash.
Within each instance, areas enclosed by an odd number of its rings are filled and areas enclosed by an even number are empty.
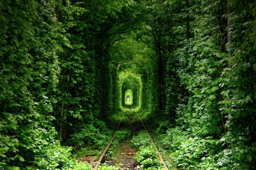
<svg viewBox="0 0 256 170">
<path fill-rule="evenodd" d="M 0 1 L 1 169 L 90 169 L 58 144 L 108 140 L 109 47 L 132 28 L 133 3 Z"/>
</svg>

